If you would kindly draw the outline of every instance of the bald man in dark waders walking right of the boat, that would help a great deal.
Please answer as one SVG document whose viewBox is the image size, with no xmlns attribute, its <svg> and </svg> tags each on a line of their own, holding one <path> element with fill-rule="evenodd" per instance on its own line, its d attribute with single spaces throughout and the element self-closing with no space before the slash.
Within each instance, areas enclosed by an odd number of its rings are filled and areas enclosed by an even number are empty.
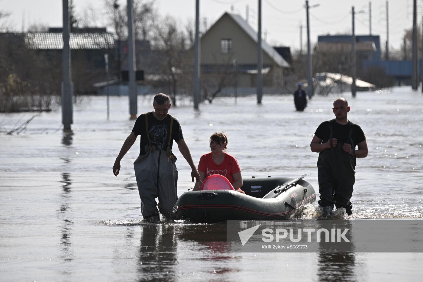
<svg viewBox="0 0 423 282">
<path fill-rule="evenodd" d="M 350 110 L 346 99 L 339 97 L 333 102 L 335 119 L 322 122 L 310 143 L 312 152 L 319 153 L 317 168 L 319 178 L 319 206 L 324 213 L 333 211 L 333 205 L 345 208 L 352 214 L 352 196 L 355 182 L 356 158 L 368 154 L 366 136 L 357 124 L 347 119 Z M 358 149 L 355 149 L 357 145 Z M 327 207 L 326 209 L 324 207 Z"/>
</svg>

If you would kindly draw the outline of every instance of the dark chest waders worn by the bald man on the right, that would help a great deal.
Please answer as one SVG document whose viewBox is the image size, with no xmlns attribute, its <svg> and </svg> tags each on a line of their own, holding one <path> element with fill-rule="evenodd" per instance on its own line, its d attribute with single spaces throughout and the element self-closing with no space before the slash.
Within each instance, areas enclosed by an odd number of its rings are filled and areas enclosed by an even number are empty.
<svg viewBox="0 0 423 282">
<path fill-rule="evenodd" d="M 333 121 L 334 122 L 334 121 Z M 326 149 L 319 153 L 317 160 L 317 177 L 319 179 L 319 206 L 321 207 L 344 207 L 348 215 L 352 214 L 352 204 L 349 201 L 352 196 L 353 186 L 355 182 L 355 146 L 352 141 L 352 127 L 354 124 L 350 122 L 350 130 L 348 134 L 349 144 L 351 144 L 353 155 L 344 152 L 343 144 L 338 143 L 333 147 L 332 138 L 332 121 L 329 122 L 329 141 L 330 149 Z"/>
</svg>

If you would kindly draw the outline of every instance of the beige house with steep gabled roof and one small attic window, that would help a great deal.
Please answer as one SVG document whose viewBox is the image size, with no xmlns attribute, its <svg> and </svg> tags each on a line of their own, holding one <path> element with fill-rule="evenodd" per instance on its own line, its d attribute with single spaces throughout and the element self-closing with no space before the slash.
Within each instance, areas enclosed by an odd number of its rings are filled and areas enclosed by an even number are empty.
<svg viewBox="0 0 423 282">
<path fill-rule="evenodd" d="M 237 73 L 237 86 L 255 88 L 257 40 L 257 32 L 240 15 L 225 12 L 201 36 L 202 72 L 219 72 L 231 66 Z M 262 50 L 264 87 L 283 87 L 284 69 L 290 65 L 264 40 Z"/>
</svg>

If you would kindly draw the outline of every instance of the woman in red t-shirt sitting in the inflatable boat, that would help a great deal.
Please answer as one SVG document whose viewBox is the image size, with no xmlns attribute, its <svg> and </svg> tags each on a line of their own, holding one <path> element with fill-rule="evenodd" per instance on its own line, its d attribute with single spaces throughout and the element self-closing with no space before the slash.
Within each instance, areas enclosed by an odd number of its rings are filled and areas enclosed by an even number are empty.
<svg viewBox="0 0 423 282">
<path fill-rule="evenodd" d="M 228 138 L 226 134 L 214 133 L 210 137 L 211 152 L 202 155 L 198 163 L 198 173 L 200 174 L 200 181 L 195 183 L 193 190 L 200 190 L 201 183 L 206 177 L 212 174 L 220 174 L 226 177 L 231 182 L 233 188 L 239 192 L 241 190 L 242 176 L 238 161 L 232 155 L 225 152 L 226 145 L 228 145 Z M 245 194 L 245 193 L 244 193 Z"/>
</svg>

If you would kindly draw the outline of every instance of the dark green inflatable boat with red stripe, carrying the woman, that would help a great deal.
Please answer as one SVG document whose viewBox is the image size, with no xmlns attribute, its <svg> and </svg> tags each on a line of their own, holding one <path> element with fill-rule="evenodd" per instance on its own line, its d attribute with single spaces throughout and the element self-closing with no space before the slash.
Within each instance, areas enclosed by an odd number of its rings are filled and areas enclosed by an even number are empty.
<svg viewBox="0 0 423 282">
<path fill-rule="evenodd" d="M 179 197 L 173 218 L 195 223 L 290 219 L 316 200 L 313 186 L 303 180 L 307 175 L 243 179 L 244 193 L 240 193 L 225 177 L 214 174 L 206 178 L 200 191 L 187 191 Z"/>
</svg>

